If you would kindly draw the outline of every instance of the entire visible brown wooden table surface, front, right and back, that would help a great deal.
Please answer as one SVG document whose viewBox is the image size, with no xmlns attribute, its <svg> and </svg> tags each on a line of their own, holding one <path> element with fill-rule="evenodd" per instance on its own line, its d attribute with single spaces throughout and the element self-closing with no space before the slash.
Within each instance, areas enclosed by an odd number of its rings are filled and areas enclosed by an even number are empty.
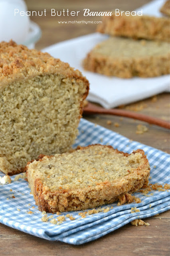
<svg viewBox="0 0 170 256">
<path fill-rule="evenodd" d="M 51 8 L 61 10 L 63 8 L 69 10 L 83 10 L 89 8 L 93 11 L 112 10 L 119 8 L 122 10 L 134 10 L 149 2 L 148 0 L 26 0 L 28 10 L 44 10 L 47 12 Z M 42 38 L 36 44 L 37 49 L 49 46 L 56 42 L 75 38 L 85 34 L 95 32 L 94 24 L 58 24 L 58 20 L 101 20 L 96 17 L 32 17 L 33 21 L 38 23 L 42 29 Z M 137 85 L 136 85 L 137 86 Z M 170 98 L 169 94 L 163 93 L 142 102 L 136 102 L 128 106 L 124 106 L 143 114 L 169 120 L 170 118 Z M 170 153 L 170 137 L 169 131 L 154 125 L 144 124 L 128 118 L 120 119 L 117 116 L 93 115 L 86 116 L 87 120 L 100 124 L 106 128 L 119 132 L 127 136 L 129 139 L 137 140 L 141 143 L 158 148 L 164 152 Z M 111 120 L 112 124 L 107 125 L 107 120 Z M 115 127 L 115 122 L 120 124 Z M 136 134 L 136 126 L 144 124 L 148 127 L 148 131 L 144 134 Z M 127 224 L 110 234 L 99 238 L 93 242 L 83 244 L 81 246 L 73 246 L 61 242 L 51 242 L 35 236 L 20 232 L 0 224 L 0 255 L 12 256 L 34 256 L 34 255 L 57 255 L 57 256 L 169 256 L 170 255 L 170 232 L 169 232 L 169 212 L 164 212 L 159 216 L 148 218 L 150 226 L 131 226 Z"/>
</svg>

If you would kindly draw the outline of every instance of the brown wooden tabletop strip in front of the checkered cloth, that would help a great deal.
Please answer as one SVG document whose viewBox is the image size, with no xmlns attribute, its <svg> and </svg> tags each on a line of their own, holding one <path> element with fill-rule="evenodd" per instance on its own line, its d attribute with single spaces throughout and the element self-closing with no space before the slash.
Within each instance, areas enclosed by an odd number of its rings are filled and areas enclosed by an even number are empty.
<svg viewBox="0 0 170 256">
<path fill-rule="evenodd" d="M 170 219 L 162 218 L 165 214 L 167 216 L 167 213 L 160 214 L 161 220 L 144 219 L 150 226 L 136 227 L 127 224 L 98 240 L 80 246 L 36 238 L 0 224 L 0 248 L 3 246 L 1 255 L 9 255 L 12 248 L 13 256 L 169 256 L 169 230 L 166 227 L 169 226 Z"/>
</svg>

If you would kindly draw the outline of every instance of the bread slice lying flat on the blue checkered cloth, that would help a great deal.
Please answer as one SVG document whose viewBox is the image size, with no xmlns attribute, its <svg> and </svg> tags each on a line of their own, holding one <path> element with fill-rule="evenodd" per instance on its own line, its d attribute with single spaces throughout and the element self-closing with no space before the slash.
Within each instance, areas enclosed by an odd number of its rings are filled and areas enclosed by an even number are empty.
<svg viewBox="0 0 170 256">
<path fill-rule="evenodd" d="M 90 145 L 71 153 L 40 156 L 26 166 L 39 210 L 64 212 L 110 204 L 148 185 L 150 166 L 143 150 L 127 154 Z"/>
</svg>

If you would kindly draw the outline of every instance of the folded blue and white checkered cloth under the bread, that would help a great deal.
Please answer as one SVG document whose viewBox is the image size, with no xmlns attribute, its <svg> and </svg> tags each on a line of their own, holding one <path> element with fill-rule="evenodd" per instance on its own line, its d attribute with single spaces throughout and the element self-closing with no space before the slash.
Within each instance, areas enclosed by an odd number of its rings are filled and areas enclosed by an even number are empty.
<svg viewBox="0 0 170 256">
<path fill-rule="evenodd" d="M 96 143 L 109 144 L 128 153 L 138 148 L 143 149 L 150 163 L 150 176 L 152 177 L 150 182 L 152 184 L 156 182 L 160 184 L 170 183 L 170 155 L 139 142 L 130 141 L 116 132 L 81 119 L 79 136 L 74 146 L 87 146 Z M 0 173 L 0 176 L 3 174 Z M 12 180 L 14 180 L 14 176 Z M 122 206 L 117 206 L 117 203 L 106 205 L 103 207 L 113 206 L 113 208 L 109 212 L 99 212 L 86 218 L 81 218 L 78 215 L 83 211 L 69 212 L 75 220 L 65 218 L 66 220 L 61 225 L 54 225 L 49 221 L 42 222 L 43 215 L 35 205 L 28 183 L 19 179 L 6 186 L 0 186 L 0 222 L 47 240 L 83 244 L 104 236 L 132 220 L 154 216 L 170 209 L 170 192 L 168 190 L 164 192 L 151 191 L 147 196 L 141 193 L 134 193 L 134 195 L 139 197 L 142 202 Z M 137 207 L 140 211 L 131 213 L 132 207 Z M 33 214 L 28 213 L 30 210 Z M 62 213 L 64 216 L 66 214 L 68 212 Z M 47 214 L 47 216 L 51 216 L 51 214 Z M 53 217 L 57 218 L 58 216 L 53 214 Z"/>
</svg>

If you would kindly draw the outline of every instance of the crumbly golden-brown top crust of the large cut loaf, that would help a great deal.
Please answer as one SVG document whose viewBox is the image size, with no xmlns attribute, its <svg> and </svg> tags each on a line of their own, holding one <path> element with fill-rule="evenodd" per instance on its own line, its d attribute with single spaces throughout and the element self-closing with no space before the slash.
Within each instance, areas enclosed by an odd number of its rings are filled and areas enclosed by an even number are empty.
<svg viewBox="0 0 170 256">
<path fill-rule="evenodd" d="M 81 79 L 89 83 L 79 70 L 74 70 L 68 63 L 53 58 L 47 52 L 30 50 L 14 41 L 0 43 L 0 83 L 4 86 L 16 80 L 43 74 L 60 74 L 63 78 Z M 88 94 L 88 92 L 87 92 Z"/>
</svg>

